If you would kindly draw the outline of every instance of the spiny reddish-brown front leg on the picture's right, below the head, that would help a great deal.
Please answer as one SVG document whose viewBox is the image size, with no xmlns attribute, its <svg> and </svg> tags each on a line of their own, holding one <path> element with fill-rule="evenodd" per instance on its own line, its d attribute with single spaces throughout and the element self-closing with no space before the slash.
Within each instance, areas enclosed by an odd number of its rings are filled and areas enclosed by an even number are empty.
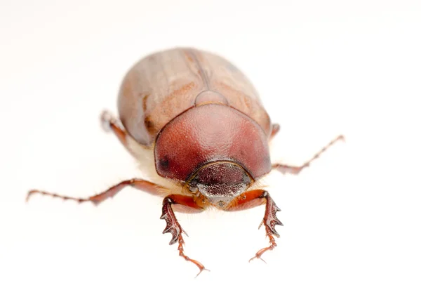
<svg viewBox="0 0 421 297">
<path fill-rule="evenodd" d="M 265 253 L 265 251 L 272 251 L 272 249 L 276 247 L 274 236 L 279 237 L 279 234 L 278 232 L 276 232 L 275 226 L 283 226 L 281 221 L 278 218 L 276 218 L 276 212 L 281 211 L 281 209 L 279 209 L 279 207 L 276 206 L 274 200 L 265 190 L 253 190 L 241 194 L 241 196 L 238 197 L 236 201 L 233 202 L 233 204 L 230 205 L 227 209 L 229 211 L 239 211 L 243 209 L 251 209 L 255 206 L 259 206 L 264 203 L 266 203 L 265 216 L 263 217 L 262 223 L 260 223 L 259 225 L 259 229 L 260 227 L 262 227 L 262 225 L 265 225 L 266 236 L 269 237 L 270 245 L 268 247 L 260 249 L 260 251 L 258 251 L 256 255 L 249 261 L 258 258 L 265 262 L 265 260 L 262 259 L 262 254 Z"/>
</svg>

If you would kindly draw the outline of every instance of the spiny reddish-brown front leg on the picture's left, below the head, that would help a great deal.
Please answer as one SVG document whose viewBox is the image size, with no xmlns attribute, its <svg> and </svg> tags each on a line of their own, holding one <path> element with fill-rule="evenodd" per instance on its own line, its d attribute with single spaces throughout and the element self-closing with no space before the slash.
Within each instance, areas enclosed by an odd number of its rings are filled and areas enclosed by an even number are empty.
<svg viewBox="0 0 421 297">
<path fill-rule="evenodd" d="M 187 233 L 185 232 L 185 230 L 182 230 L 180 223 L 178 223 L 177 218 L 175 218 L 173 208 L 171 207 L 173 204 L 182 204 L 185 206 L 192 207 L 194 209 L 201 209 L 201 208 L 194 203 L 193 197 L 173 194 L 163 199 L 162 216 L 161 216 L 161 219 L 165 220 L 167 224 L 166 228 L 163 230 L 162 233 L 169 232 L 171 233 L 171 235 L 173 235 L 173 238 L 171 239 L 170 244 L 175 244 L 175 242 L 178 242 L 179 255 L 182 258 L 185 258 L 186 261 L 194 263 L 194 265 L 196 265 L 199 268 L 199 273 L 197 275 L 200 275 L 200 273 L 203 270 L 207 270 L 207 269 L 199 261 L 193 260 L 185 255 L 184 249 L 182 247 L 183 244 L 185 243 L 184 239 L 182 238 L 182 233 L 184 233 L 185 235 L 187 235 Z"/>
</svg>

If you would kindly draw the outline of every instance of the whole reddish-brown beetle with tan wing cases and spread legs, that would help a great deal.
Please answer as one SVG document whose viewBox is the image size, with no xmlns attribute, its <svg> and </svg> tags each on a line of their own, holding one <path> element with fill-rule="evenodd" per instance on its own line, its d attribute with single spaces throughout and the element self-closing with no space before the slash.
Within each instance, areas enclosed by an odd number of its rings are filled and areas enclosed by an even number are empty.
<svg viewBox="0 0 421 297">
<path fill-rule="evenodd" d="M 279 131 L 272 124 L 258 93 L 246 76 L 218 55 L 194 48 L 172 48 L 147 55 L 124 77 L 118 98 L 119 120 L 105 111 L 102 124 L 138 160 L 149 180 L 123 180 L 105 192 L 74 198 L 41 190 L 61 199 L 99 204 L 123 187 L 131 186 L 163 197 L 163 233 L 171 233 L 185 260 L 206 268 L 184 251 L 184 230 L 174 211 L 199 213 L 208 207 L 239 211 L 265 204 L 264 225 L 269 246 L 279 237 L 280 211 L 260 178 L 272 169 L 297 174 L 338 136 L 302 166 L 272 164 L 269 140 Z M 199 275 L 198 274 L 198 275 Z"/>
</svg>

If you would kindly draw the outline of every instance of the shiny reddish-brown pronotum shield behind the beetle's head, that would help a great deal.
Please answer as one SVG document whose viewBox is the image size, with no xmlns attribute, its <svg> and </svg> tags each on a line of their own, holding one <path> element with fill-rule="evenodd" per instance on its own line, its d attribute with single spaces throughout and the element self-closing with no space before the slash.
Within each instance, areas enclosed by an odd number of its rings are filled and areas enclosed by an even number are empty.
<svg viewBox="0 0 421 297">
<path fill-rule="evenodd" d="M 227 105 L 199 105 L 180 114 L 156 137 L 154 150 L 156 172 L 175 180 L 188 180 L 211 161 L 232 161 L 253 179 L 271 170 L 265 131 Z"/>
</svg>

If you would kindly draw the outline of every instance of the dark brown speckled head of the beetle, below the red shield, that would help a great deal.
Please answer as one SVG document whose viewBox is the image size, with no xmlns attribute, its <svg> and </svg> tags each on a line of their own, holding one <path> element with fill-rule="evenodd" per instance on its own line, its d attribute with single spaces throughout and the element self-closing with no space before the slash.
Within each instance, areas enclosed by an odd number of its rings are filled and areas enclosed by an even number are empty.
<svg viewBox="0 0 421 297">
<path fill-rule="evenodd" d="M 217 161 L 202 166 L 189 181 L 191 190 L 198 190 L 210 204 L 225 208 L 252 183 L 243 167 L 231 161 Z M 196 189 L 195 189 L 196 188 Z"/>
</svg>

